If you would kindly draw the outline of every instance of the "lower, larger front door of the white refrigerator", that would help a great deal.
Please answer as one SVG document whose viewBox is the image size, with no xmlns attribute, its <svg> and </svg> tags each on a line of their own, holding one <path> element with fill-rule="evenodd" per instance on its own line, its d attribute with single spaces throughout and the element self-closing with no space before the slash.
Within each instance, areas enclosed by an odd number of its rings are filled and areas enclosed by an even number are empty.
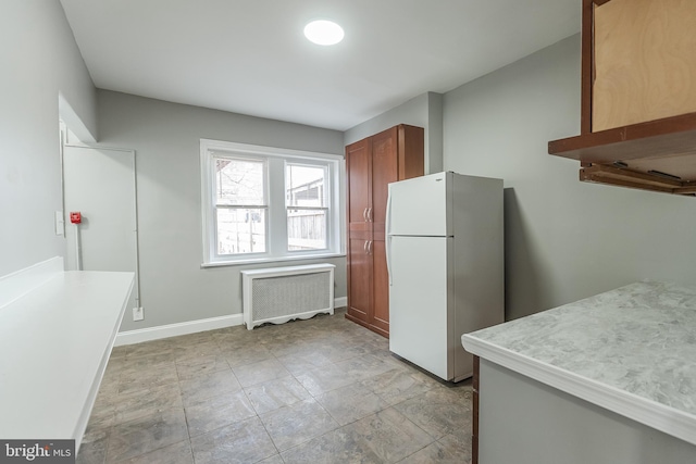
<svg viewBox="0 0 696 464">
<path fill-rule="evenodd" d="M 453 376 L 448 311 L 449 237 L 388 237 L 391 254 L 389 350 L 449 380 Z"/>
</svg>

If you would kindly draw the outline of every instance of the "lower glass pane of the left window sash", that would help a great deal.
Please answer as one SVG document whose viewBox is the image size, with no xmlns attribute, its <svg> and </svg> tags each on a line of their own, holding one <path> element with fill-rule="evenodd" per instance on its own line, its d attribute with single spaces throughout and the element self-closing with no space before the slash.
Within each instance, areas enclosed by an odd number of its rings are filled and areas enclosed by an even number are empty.
<svg viewBox="0 0 696 464">
<path fill-rule="evenodd" d="M 219 208 L 217 254 L 265 252 L 265 209 Z"/>
</svg>

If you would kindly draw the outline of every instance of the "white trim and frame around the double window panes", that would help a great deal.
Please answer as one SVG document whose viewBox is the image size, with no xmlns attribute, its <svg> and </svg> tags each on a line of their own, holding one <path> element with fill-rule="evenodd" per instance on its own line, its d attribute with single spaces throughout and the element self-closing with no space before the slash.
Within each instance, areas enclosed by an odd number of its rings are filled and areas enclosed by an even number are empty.
<svg viewBox="0 0 696 464">
<path fill-rule="evenodd" d="M 215 253 L 215 208 L 213 205 L 214 199 L 214 176 L 213 171 L 213 154 L 220 154 L 221 152 L 228 152 L 231 155 L 244 156 L 245 154 L 257 158 L 276 158 L 284 160 L 295 159 L 297 161 L 318 162 L 324 161 L 331 165 L 330 173 L 330 189 L 332 196 L 332 217 L 330 226 L 330 236 L 327 237 L 330 246 L 327 250 L 310 250 L 310 251 L 271 251 L 269 243 L 269 251 L 259 254 L 246 254 L 239 258 L 229 256 L 216 256 Z M 237 143 L 221 140 L 200 139 L 200 177 L 201 177 L 201 236 L 202 236 L 202 264 L 201 267 L 215 267 L 215 266 L 229 266 L 250 263 L 270 263 L 281 261 L 300 261 L 300 260 L 313 260 L 320 258 L 339 258 L 345 256 L 345 218 L 346 218 L 346 202 L 345 202 L 345 178 L 346 178 L 346 163 L 344 158 L 338 154 L 318 153 L 311 151 L 281 149 L 275 147 L 263 147 L 247 143 Z M 270 180 L 270 179 L 269 179 Z M 266 185 L 266 189 L 268 189 Z M 268 193 L 268 192 L 266 192 Z M 269 211 L 276 210 L 277 206 L 272 206 L 273 199 L 269 197 Z M 285 214 L 285 203 L 282 205 L 282 210 Z M 270 213 L 272 215 L 273 213 Z M 270 221 L 270 218 L 269 218 Z"/>
</svg>

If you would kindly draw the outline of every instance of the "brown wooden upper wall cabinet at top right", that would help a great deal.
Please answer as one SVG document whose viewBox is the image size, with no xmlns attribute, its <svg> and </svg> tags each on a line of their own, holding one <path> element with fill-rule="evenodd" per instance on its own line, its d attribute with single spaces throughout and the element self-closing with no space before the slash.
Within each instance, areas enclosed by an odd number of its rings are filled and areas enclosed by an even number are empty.
<svg viewBox="0 0 696 464">
<path fill-rule="evenodd" d="M 696 195 L 696 3 L 583 0 L 580 179 Z"/>
</svg>

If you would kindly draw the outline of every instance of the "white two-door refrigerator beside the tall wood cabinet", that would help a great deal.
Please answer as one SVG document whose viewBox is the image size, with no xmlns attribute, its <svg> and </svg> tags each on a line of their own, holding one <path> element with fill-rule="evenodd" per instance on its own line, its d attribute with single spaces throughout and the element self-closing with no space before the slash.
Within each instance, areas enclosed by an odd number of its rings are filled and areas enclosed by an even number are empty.
<svg viewBox="0 0 696 464">
<path fill-rule="evenodd" d="M 471 377 L 462 334 L 504 322 L 502 180 L 452 172 L 389 184 L 389 350 Z"/>
</svg>

